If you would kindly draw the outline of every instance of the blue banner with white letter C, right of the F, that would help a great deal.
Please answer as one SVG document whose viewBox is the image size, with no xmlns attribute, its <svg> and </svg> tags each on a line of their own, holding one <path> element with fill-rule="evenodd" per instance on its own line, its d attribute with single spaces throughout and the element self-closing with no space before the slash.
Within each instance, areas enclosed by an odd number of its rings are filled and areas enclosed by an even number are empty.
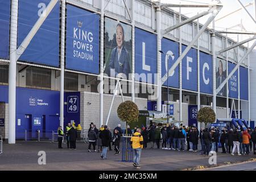
<svg viewBox="0 0 256 182">
<path fill-rule="evenodd" d="M 200 51 L 200 92 L 213 93 L 212 55 Z"/>
</svg>

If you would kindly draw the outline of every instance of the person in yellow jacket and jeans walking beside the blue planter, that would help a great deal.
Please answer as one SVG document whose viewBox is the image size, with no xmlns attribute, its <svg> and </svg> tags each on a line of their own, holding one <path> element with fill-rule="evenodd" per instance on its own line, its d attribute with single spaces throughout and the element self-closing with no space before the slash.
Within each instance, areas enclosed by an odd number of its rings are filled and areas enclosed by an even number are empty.
<svg viewBox="0 0 256 182">
<path fill-rule="evenodd" d="M 139 166 L 139 161 L 141 160 L 141 151 L 143 148 L 141 129 L 137 129 L 133 134 L 133 137 L 131 137 L 131 146 L 133 147 L 133 166 L 139 169 L 141 168 L 141 166 Z"/>
</svg>

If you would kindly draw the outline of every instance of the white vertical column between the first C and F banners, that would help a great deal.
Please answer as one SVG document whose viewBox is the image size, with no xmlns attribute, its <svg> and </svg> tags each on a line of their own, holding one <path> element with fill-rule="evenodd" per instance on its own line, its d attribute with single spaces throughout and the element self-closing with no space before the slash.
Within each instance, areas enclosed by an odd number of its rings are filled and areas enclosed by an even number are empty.
<svg viewBox="0 0 256 182">
<path fill-rule="evenodd" d="M 181 22 L 181 7 L 179 10 L 179 23 Z M 181 56 L 182 53 L 182 38 L 181 38 L 181 27 L 179 27 L 179 56 Z M 179 121 L 182 121 L 182 60 L 179 64 L 179 82 L 180 82 L 180 90 L 179 90 Z"/>
</svg>

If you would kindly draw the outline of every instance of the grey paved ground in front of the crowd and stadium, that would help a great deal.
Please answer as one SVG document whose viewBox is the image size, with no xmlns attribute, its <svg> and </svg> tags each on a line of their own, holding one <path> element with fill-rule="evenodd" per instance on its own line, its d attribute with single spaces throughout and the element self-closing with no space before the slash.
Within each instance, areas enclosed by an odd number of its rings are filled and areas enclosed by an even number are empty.
<svg viewBox="0 0 256 182">
<path fill-rule="evenodd" d="M 66 147 L 64 145 L 64 147 Z M 131 163 L 121 162 L 121 154 L 116 156 L 108 151 L 108 159 L 101 160 L 100 153 L 88 152 L 87 144 L 78 142 L 77 150 L 58 149 L 57 143 L 24 142 L 16 144 L 3 143 L 3 154 L 0 155 L 2 170 L 138 170 Z M 38 164 L 38 152 L 46 152 L 46 165 Z M 232 156 L 218 154 L 217 164 L 237 162 L 256 158 L 255 155 Z M 208 157 L 199 152 L 179 152 L 169 150 L 146 149 L 142 151 L 141 170 L 179 170 L 196 166 L 209 166 Z"/>
</svg>

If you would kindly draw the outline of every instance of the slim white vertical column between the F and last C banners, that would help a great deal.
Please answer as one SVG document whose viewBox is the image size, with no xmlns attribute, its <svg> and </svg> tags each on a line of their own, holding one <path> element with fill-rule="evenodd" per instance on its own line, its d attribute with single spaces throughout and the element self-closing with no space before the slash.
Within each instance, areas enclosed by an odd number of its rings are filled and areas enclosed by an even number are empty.
<svg viewBox="0 0 256 182">
<path fill-rule="evenodd" d="M 199 32 L 199 19 L 196 24 L 197 32 Z M 200 110 L 200 45 L 197 39 L 197 113 Z M 200 122 L 197 122 L 197 129 L 200 131 Z"/>
</svg>

